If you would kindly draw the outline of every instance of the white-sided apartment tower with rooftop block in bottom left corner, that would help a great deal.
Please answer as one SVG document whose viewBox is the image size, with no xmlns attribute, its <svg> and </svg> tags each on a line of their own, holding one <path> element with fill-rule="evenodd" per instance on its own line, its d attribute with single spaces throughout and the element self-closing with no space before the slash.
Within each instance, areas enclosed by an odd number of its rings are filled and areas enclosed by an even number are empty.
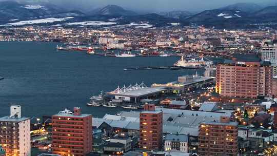
<svg viewBox="0 0 277 156">
<path fill-rule="evenodd" d="M 10 116 L 0 118 L 0 145 L 7 156 L 31 155 L 30 118 L 21 116 L 21 106 L 11 105 Z"/>
</svg>

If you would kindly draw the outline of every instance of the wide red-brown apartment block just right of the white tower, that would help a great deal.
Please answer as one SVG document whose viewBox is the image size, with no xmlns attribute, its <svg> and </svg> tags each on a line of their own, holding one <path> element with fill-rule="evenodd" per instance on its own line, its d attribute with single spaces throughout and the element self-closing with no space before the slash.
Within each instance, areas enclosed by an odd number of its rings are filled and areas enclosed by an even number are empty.
<svg viewBox="0 0 277 156">
<path fill-rule="evenodd" d="M 53 154 L 81 156 L 92 151 L 92 115 L 60 112 L 52 116 Z"/>
</svg>

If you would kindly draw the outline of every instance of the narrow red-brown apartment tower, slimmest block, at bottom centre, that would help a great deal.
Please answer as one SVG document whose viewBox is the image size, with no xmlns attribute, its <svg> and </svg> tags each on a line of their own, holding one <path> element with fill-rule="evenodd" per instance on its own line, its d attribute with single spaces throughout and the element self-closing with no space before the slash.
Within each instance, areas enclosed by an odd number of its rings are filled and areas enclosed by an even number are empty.
<svg viewBox="0 0 277 156">
<path fill-rule="evenodd" d="M 159 150 L 163 143 L 163 112 L 155 111 L 155 105 L 145 104 L 140 113 L 140 148 Z"/>
</svg>

